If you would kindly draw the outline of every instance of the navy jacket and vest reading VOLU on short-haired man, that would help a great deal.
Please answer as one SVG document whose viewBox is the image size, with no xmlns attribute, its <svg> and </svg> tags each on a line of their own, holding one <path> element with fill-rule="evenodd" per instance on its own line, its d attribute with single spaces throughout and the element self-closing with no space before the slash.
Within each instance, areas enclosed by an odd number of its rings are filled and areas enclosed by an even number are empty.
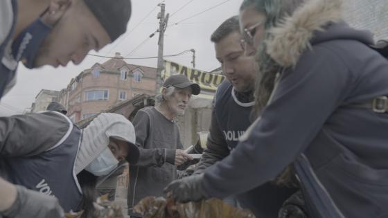
<svg viewBox="0 0 388 218">
<path fill-rule="evenodd" d="M 215 95 L 207 147 L 195 174 L 204 172 L 207 167 L 233 153 L 238 145 L 238 138 L 252 123 L 253 105 L 254 102 L 243 103 L 238 100 L 227 80 L 220 84 Z M 279 187 L 268 182 L 236 195 L 236 199 L 240 206 L 254 211 L 257 217 L 276 217 L 282 203 L 294 191 L 292 188 Z"/>
</svg>

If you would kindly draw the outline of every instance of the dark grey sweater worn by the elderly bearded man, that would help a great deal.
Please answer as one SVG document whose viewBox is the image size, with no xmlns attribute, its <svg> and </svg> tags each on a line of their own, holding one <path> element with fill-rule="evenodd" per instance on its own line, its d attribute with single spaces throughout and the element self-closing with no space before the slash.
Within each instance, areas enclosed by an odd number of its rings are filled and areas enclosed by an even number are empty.
<svg viewBox="0 0 388 218">
<path fill-rule="evenodd" d="M 140 158 L 130 166 L 128 188 L 128 214 L 132 207 L 148 196 L 163 196 L 163 190 L 177 179 L 175 150 L 182 149 L 178 126 L 168 120 L 155 107 L 145 107 L 136 113 L 133 120 L 136 144 Z"/>
</svg>

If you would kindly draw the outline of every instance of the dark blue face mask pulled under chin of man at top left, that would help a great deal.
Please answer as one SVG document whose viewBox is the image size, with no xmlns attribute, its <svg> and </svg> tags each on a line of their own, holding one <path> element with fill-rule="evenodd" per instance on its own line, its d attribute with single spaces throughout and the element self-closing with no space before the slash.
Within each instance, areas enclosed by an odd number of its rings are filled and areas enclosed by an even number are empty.
<svg viewBox="0 0 388 218">
<path fill-rule="evenodd" d="M 12 43 L 12 55 L 15 60 L 21 60 L 28 69 L 33 69 L 37 51 L 50 31 L 51 27 L 44 24 L 40 18 L 25 28 Z"/>
</svg>

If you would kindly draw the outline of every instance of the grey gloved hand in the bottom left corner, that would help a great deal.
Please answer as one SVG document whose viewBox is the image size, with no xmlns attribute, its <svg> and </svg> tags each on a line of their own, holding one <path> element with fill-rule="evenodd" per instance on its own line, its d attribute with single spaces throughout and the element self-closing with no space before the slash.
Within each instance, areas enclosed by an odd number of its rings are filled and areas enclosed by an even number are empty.
<svg viewBox="0 0 388 218">
<path fill-rule="evenodd" d="M 8 210 L 0 211 L 3 217 L 12 218 L 64 218 L 58 199 L 16 185 L 17 197 Z M 0 216 L 1 217 L 1 216 Z"/>
</svg>

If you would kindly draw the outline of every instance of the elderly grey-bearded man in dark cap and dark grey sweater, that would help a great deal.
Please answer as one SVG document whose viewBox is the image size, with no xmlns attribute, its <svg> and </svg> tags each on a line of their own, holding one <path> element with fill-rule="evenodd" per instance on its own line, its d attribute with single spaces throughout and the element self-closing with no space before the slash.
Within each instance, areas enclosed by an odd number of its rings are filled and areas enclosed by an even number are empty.
<svg viewBox="0 0 388 218">
<path fill-rule="evenodd" d="M 156 106 L 136 113 L 133 124 L 140 157 L 136 165 L 130 165 L 127 204 L 131 217 L 136 217 L 132 212 L 136 203 L 150 195 L 163 195 L 164 187 L 177 179 L 177 166 L 192 159 L 182 150 L 174 118 L 184 114 L 191 95 L 199 93 L 198 84 L 184 75 L 172 75 L 164 82 Z"/>
</svg>

